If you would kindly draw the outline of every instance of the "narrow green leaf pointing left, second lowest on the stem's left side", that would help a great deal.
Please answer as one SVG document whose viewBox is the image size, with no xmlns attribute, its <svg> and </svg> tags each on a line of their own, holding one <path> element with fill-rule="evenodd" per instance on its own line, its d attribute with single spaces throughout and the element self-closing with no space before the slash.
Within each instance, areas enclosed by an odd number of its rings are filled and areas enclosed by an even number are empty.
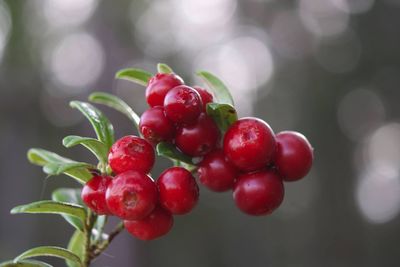
<svg viewBox="0 0 400 267">
<path fill-rule="evenodd" d="M 77 204 L 53 200 L 33 202 L 26 205 L 17 206 L 11 210 L 11 214 L 18 213 L 69 215 L 78 218 L 82 222 L 82 224 L 85 222 L 86 219 L 86 210 L 84 207 Z M 78 226 L 76 227 L 78 228 Z"/>
</svg>

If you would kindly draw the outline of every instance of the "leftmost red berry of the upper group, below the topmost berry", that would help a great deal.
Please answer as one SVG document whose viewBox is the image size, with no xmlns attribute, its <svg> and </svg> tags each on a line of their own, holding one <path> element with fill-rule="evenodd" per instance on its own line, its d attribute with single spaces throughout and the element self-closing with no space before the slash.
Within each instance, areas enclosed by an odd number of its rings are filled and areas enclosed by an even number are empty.
<svg viewBox="0 0 400 267">
<path fill-rule="evenodd" d="M 163 107 L 154 107 L 146 110 L 140 117 L 140 132 L 150 143 L 172 140 L 175 127 L 165 116 Z"/>
</svg>

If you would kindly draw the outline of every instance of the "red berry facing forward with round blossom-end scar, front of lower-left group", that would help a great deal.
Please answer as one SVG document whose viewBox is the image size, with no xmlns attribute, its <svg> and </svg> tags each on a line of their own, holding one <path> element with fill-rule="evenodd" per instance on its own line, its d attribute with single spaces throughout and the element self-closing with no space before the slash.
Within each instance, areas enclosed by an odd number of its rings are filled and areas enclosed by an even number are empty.
<svg viewBox="0 0 400 267">
<path fill-rule="evenodd" d="M 106 191 L 109 210 L 125 220 L 140 220 L 157 204 L 157 186 L 146 174 L 128 171 L 117 175 Z"/>
</svg>

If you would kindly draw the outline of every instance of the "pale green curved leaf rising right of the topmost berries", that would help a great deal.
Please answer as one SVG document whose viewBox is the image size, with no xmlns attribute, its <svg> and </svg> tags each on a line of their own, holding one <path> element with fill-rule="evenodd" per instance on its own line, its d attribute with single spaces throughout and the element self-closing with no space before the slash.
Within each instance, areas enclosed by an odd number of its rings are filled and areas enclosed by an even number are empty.
<svg viewBox="0 0 400 267">
<path fill-rule="evenodd" d="M 214 74 L 207 71 L 199 71 L 197 75 L 213 91 L 218 103 L 234 106 L 233 97 L 225 84 Z"/>
</svg>

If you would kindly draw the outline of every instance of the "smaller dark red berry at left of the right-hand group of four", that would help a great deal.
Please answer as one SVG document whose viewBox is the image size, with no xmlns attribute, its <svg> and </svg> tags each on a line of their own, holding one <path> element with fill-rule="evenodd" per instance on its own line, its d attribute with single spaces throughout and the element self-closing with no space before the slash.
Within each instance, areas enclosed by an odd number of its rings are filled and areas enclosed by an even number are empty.
<svg viewBox="0 0 400 267">
<path fill-rule="evenodd" d="M 225 158 L 222 150 L 215 150 L 206 155 L 200 162 L 197 173 L 200 182 L 215 192 L 232 189 L 238 174 L 236 168 Z"/>
</svg>

